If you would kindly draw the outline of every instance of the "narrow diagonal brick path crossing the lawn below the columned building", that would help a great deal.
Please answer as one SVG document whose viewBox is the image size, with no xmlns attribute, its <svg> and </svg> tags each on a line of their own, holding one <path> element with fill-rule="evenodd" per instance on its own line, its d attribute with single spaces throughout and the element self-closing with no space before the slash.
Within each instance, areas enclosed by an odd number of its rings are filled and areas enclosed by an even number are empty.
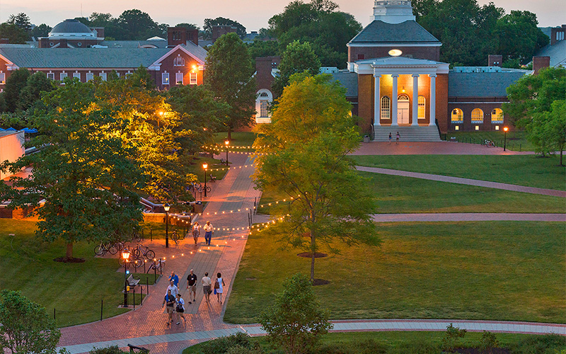
<svg viewBox="0 0 566 354">
<path fill-rule="evenodd" d="M 512 190 L 514 192 L 524 192 L 524 193 L 533 193 L 533 194 L 541 194 L 541 195 L 553 195 L 555 197 L 566 198 L 565 190 L 526 187 L 524 185 L 480 181 L 477 179 L 461 178 L 461 177 L 441 176 L 441 175 L 434 175 L 431 173 L 418 173 L 418 172 L 400 171 L 400 170 L 392 170 L 392 169 L 380 169 L 378 167 L 356 166 L 356 169 L 358 171 L 381 173 L 391 176 L 403 176 L 403 177 L 427 179 L 429 181 L 477 185 L 478 187 L 497 188 L 503 190 Z"/>
</svg>

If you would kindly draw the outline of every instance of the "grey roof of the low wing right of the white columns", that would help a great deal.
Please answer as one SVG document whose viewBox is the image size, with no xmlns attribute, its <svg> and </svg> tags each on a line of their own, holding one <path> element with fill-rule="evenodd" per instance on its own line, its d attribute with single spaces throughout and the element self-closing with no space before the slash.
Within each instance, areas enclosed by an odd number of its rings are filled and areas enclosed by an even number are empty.
<svg viewBox="0 0 566 354">
<path fill-rule="evenodd" d="M 507 87 L 528 70 L 512 72 L 449 72 L 449 97 L 507 97 Z"/>
</svg>

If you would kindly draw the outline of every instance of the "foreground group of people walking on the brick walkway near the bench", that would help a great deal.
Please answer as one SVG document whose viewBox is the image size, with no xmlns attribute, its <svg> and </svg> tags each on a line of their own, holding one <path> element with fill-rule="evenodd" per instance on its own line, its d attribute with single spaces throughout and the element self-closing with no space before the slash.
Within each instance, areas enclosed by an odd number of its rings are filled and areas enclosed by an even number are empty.
<svg viewBox="0 0 566 354">
<path fill-rule="evenodd" d="M 189 275 L 187 275 L 187 290 L 189 291 L 188 304 L 192 304 L 192 302 L 196 303 L 197 301 L 197 281 L 197 275 L 195 275 L 195 272 L 191 269 Z M 202 284 L 202 291 L 204 292 L 204 300 L 207 303 L 210 303 L 210 295 L 214 291 L 216 299 L 221 304 L 222 293 L 224 292 L 225 286 L 222 275 L 220 273 L 216 273 L 216 278 L 213 283 L 212 279 L 208 276 L 208 272 L 206 272 L 200 282 Z M 191 295 L 192 302 L 190 301 Z M 185 319 L 185 299 L 183 299 L 180 294 L 179 277 L 174 271 L 171 272 L 171 276 L 169 277 L 169 286 L 167 287 L 163 304 L 161 304 L 161 307 L 163 306 L 166 307 L 166 312 L 168 314 L 167 324 L 173 323 L 173 313 L 175 312 L 178 314 L 177 324 L 180 324 L 181 319 L 185 322 L 187 321 L 187 319 Z"/>
</svg>

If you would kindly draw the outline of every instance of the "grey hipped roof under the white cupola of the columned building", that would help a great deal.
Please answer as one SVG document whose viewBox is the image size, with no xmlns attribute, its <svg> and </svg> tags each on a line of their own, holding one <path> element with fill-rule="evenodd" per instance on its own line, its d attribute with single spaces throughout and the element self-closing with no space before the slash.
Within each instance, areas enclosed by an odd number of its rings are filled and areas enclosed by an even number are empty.
<svg viewBox="0 0 566 354">
<path fill-rule="evenodd" d="M 422 28 L 416 21 L 402 23 L 386 23 L 375 20 L 350 40 L 350 43 L 430 43 L 440 44 L 440 41 Z"/>
</svg>

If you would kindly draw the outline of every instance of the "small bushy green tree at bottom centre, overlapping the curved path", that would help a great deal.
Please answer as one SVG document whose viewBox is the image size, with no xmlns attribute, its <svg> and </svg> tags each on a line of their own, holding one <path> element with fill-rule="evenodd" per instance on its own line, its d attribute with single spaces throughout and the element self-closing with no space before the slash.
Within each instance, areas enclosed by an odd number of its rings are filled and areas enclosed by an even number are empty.
<svg viewBox="0 0 566 354">
<path fill-rule="evenodd" d="M 285 353 L 310 353 L 320 336 L 333 328 L 328 322 L 328 311 L 320 308 L 306 275 L 297 273 L 283 286 L 275 305 L 260 315 L 262 329 L 268 340 Z"/>
</svg>

